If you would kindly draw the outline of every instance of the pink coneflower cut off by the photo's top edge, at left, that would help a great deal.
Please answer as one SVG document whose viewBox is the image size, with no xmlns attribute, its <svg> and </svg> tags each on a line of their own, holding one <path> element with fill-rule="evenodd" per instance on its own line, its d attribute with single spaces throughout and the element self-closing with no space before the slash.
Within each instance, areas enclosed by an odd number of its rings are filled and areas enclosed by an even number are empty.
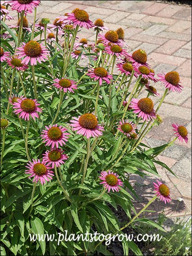
<svg viewBox="0 0 192 256">
<path fill-rule="evenodd" d="M 25 13 L 32 13 L 33 10 L 40 4 L 40 1 L 11 1 L 6 0 L 5 3 L 8 3 L 11 6 L 12 10 L 17 12 L 25 11 Z"/>
</svg>

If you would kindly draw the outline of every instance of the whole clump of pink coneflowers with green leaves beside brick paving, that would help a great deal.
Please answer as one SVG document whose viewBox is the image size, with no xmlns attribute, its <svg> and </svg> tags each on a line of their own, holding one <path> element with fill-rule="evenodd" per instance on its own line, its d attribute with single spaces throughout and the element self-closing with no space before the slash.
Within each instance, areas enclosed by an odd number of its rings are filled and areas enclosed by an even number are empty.
<svg viewBox="0 0 192 256">
<path fill-rule="evenodd" d="M 123 234 L 158 197 L 171 201 L 172 191 L 157 181 L 137 213 L 129 177 L 158 176 L 157 164 L 172 172 L 156 157 L 177 139 L 187 143 L 182 123 L 161 147 L 143 138 L 163 129 L 158 111 L 182 82 L 176 71 L 155 74 L 145 49 L 131 52 L 122 28 L 111 30 L 79 8 L 39 19 L 40 2 L 1 3 L 2 255 L 108 255 L 98 233 Z M 15 26 L 6 24 L 10 10 Z M 82 28 L 95 40 L 82 37 Z M 92 241 L 30 241 L 66 231 L 97 234 Z M 134 242 L 122 243 L 124 253 L 142 254 Z"/>
</svg>

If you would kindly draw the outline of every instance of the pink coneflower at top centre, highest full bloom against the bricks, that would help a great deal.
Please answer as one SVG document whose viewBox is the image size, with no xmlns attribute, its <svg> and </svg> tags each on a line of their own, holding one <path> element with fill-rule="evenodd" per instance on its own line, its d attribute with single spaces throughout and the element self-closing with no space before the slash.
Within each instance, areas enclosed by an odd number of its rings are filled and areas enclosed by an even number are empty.
<svg viewBox="0 0 192 256">
<path fill-rule="evenodd" d="M 79 26 L 80 28 L 91 29 L 93 23 L 89 19 L 89 14 L 84 10 L 78 8 L 73 13 L 68 13 L 65 19 L 66 23 L 73 23 L 74 27 Z"/>
</svg>

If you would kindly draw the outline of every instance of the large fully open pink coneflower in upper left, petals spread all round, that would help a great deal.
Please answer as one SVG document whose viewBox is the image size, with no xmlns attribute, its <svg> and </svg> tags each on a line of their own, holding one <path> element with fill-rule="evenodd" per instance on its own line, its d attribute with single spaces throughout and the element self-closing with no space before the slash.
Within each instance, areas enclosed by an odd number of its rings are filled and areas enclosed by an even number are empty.
<svg viewBox="0 0 192 256">
<path fill-rule="evenodd" d="M 23 58 L 22 63 L 28 65 L 31 61 L 31 65 L 37 65 L 37 61 L 46 61 L 48 59 L 49 51 L 45 46 L 42 46 L 37 41 L 29 41 L 27 44 L 23 42 L 23 46 L 17 48 L 17 58 Z"/>
</svg>

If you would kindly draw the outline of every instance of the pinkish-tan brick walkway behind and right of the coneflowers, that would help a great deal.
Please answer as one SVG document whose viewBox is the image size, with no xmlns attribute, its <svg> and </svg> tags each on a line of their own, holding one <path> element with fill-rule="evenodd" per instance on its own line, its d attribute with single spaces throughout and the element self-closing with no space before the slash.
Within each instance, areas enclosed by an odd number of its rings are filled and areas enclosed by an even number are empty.
<svg viewBox="0 0 192 256">
<path fill-rule="evenodd" d="M 168 148 L 160 160 L 164 161 L 179 179 L 158 167 L 161 181 L 171 189 L 172 202 L 166 207 L 157 201 L 152 209 L 172 217 L 190 215 L 191 212 L 191 8 L 153 1 L 41 1 L 37 17 L 49 17 L 51 21 L 74 8 L 84 9 L 95 21 L 101 18 L 110 29 L 122 27 L 131 51 L 144 49 L 148 62 L 156 73 L 176 70 L 180 74 L 182 93 L 171 93 L 160 109 L 163 124 L 154 129 L 147 138 L 151 146 L 159 146 L 172 138 L 172 123 L 186 125 L 188 144 L 176 142 Z M 32 22 L 32 19 L 31 19 Z M 80 38 L 94 41 L 92 30 L 82 30 Z M 160 83 L 158 91 L 163 92 Z M 135 203 L 140 209 L 151 197 L 155 177 L 131 176 L 131 182 L 142 202 Z M 183 201 L 179 202 L 181 197 Z M 155 214 L 157 217 L 157 214 Z M 154 216 L 151 216 L 154 217 Z"/>
</svg>

